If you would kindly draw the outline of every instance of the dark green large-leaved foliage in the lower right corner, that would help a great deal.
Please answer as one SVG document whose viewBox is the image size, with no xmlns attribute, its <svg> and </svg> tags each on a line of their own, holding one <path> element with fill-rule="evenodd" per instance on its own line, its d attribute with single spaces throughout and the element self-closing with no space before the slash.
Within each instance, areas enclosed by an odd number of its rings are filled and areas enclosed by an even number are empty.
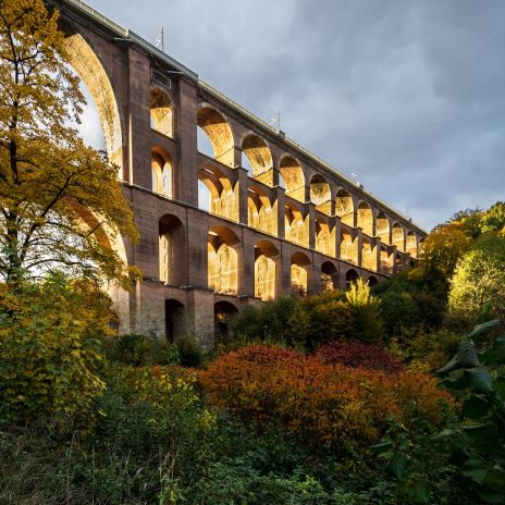
<svg viewBox="0 0 505 505">
<path fill-rule="evenodd" d="M 505 502 L 505 335 L 477 352 L 482 340 L 502 327 L 498 320 L 482 323 L 459 344 L 456 356 L 440 370 L 444 385 L 463 397 L 464 422 L 436 436 L 452 454 L 461 475 L 476 483 L 484 503 Z"/>
</svg>

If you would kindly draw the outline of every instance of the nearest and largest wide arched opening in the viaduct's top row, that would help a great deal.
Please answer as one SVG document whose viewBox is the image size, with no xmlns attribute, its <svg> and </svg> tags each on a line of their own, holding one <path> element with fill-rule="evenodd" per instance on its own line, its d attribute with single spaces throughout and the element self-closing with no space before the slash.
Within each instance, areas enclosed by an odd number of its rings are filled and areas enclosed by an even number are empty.
<svg viewBox="0 0 505 505">
<path fill-rule="evenodd" d="M 215 161 L 232 169 L 235 168 L 235 143 L 230 124 L 223 114 L 210 106 L 202 106 L 198 109 L 197 125 L 205 133 L 212 148 L 212 157 Z M 204 137 L 205 138 L 205 137 Z M 202 135 L 198 135 L 198 151 L 209 155 L 202 140 Z"/>
</svg>

